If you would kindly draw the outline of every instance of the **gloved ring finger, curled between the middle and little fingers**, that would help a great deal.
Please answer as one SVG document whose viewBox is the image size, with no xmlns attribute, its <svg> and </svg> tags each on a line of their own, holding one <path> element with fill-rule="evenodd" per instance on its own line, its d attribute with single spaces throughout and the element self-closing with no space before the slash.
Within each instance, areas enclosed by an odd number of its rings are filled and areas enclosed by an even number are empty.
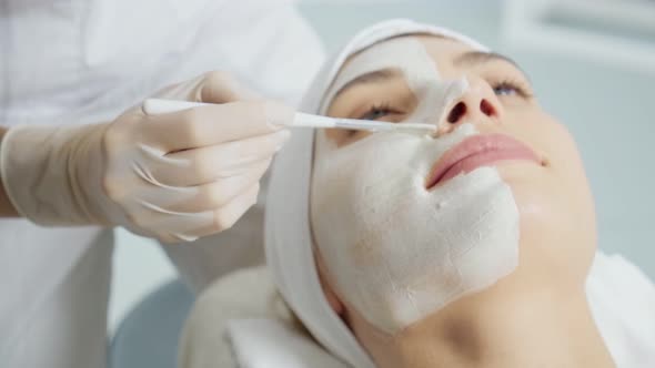
<svg viewBox="0 0 655 368">
<path fill-rule="evenodd" d="M 240 175 L 194 186 L 194 195 L 165 208 L 171 212 L 195 213 L 221 208 L 258 183 L 271 164 L 271 159 L 251 165 Z"/>
</svg>

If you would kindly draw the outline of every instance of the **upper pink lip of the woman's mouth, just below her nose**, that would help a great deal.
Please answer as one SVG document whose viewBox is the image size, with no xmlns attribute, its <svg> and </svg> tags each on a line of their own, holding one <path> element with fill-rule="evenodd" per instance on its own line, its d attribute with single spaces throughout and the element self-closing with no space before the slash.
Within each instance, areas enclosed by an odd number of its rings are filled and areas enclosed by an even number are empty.
<svg viewBox="0 0 655 368">
<path fill-rule="evenodd" d="M 446 151 L 432 166 L 425 187 L 430 190 L 440 184 L 447 171 L 458 162 L 493 152 L 507 153 L 508 156 L 515 155 L 515 160 L 532 160 L 542 164 L 542 160 L 532 149 L 514 137 L 497 133 L 473 135 Z M 512 157 L 503 160 L 512 160 Z"/>
</svg>

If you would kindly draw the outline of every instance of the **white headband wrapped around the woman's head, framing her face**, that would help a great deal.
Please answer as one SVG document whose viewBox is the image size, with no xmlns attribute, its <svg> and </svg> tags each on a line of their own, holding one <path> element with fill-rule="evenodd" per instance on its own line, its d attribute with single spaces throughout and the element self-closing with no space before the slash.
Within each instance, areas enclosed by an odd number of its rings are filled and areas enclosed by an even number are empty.
<svg viewBox="0 0 655 368">
<path fill-rule="evenodd" d="M 349 57 L 380 41 L 404 34 L 443 35 L 486 50 L 476 41 L 447 29 L 396 19 L 359 32 L 329 60 L 311 84 L 301 111 L 321 113 L 324 94 Z M 266 196 L 265 249 L 268 265 L 284 299 L 310 333 L 331 354 L 357 368 L 375 367 L 351 330 L 333 311 L 321 288 L 314 264 L 310 226 L 310 187 L 314 132 L 296 129 L 278 154 Z"/>
</svg>

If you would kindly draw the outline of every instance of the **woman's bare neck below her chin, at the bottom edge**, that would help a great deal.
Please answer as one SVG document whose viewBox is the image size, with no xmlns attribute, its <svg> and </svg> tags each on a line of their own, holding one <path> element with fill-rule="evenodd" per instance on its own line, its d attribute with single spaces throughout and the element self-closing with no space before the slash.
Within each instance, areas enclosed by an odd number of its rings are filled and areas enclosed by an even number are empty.
<svg viewBox="0 0 655 368">
<path fill-rule="evenodd" d="M 361 338 L 375 341 L 369 346 L 381 368 L 614 367 L 584 287 L 506 284 L 456 300 L 393 338 Z"/>
</svg>

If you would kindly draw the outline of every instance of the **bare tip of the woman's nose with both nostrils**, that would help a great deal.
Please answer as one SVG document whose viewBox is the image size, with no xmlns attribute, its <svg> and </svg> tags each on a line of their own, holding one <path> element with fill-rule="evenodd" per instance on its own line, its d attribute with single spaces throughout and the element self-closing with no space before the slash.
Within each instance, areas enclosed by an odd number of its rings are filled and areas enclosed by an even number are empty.
<svg viewBox="0 0 655 368">
<path fill-rule="evenodd" d="M 486 82 L 481 81 L 450 103 L 439 123 L 437 135 L 450 133 L 466 122 L 477 124 L 498 121 L 501 114 L 497 96 Z"/>
</svg>

